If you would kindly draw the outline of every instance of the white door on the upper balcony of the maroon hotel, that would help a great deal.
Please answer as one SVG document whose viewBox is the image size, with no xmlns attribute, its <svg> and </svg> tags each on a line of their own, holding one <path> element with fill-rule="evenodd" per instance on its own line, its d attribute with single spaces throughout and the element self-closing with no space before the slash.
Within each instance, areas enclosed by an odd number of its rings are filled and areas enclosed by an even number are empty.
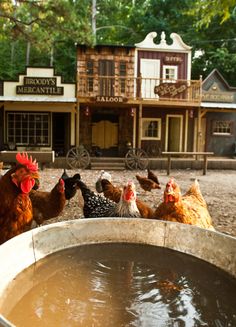
<svg viewBox="0 0 236 327">
<path fill-rule="evenodd" d="M 158 98 L 158 95 L 154 93 L 154 88 L 160 84 L 160 60 L 141 59 L 140 73 L 142 76 L 142 98 Z"/>
</svg>

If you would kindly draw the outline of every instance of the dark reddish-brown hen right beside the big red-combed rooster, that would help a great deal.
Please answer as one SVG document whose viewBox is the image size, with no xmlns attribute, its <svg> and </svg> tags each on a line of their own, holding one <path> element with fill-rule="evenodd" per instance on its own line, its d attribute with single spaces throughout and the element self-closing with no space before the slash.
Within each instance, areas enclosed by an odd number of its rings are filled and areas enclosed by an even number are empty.
<svg viewBox="0 0 236 327">
<path fill-rule="evenodd" d="M 54 186 L 51 192 L 30 192 L 33 206 L 33 220 L 41 225 L 43 221 L 57 217 L 65 207 L 65 183 L 62 178 Z"/>
</svg>

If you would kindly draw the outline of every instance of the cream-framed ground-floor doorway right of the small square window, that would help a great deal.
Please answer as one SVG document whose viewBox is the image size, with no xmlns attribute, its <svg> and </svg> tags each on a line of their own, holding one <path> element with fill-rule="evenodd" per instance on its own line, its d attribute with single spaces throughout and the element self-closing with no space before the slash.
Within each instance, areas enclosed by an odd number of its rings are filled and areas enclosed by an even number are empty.
<svg viewBox="0 0 236 327">
<path fill-rule="evenodd" d="M 166 151 L 182 151 L 183 116 L 166 117 Z"/>
</svg>

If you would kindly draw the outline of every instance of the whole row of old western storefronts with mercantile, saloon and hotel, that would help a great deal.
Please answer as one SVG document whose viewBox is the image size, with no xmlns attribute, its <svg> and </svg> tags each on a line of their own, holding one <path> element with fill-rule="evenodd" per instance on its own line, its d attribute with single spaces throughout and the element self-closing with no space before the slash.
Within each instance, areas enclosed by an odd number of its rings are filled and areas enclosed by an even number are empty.
<svg viewBox="0 0 236 327">
<path fill-rule="evenodd" d="M 158 44 L 156 37 L 149 33 L 134 46 L 77 45 L 76 84 L 43 67 L 3 81 L 1 149 L 65 156 L 83 145 L 104 157 L 123 157 L 129 147 L 150 157 L 164 151 L 232 155 L 235 88 L 217 71 L 203 83 L 191 80 L 191 47 L 175 33 L 171 44 L 164 32 Z"/>
</svg>

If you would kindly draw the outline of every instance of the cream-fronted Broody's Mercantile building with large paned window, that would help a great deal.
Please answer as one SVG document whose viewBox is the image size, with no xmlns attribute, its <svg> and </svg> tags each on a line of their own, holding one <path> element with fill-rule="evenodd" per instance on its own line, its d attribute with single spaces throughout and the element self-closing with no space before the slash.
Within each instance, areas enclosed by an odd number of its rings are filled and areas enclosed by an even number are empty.
<svg viewBox="0 0 236 327">
<path fill-rule="evenodd" d="M 53 68 L 27 67 L 17 81 L 1 82 L 0 148 L 65 155 L 75 144 L 75 109 L 75 84 Z"/>
</svg>

